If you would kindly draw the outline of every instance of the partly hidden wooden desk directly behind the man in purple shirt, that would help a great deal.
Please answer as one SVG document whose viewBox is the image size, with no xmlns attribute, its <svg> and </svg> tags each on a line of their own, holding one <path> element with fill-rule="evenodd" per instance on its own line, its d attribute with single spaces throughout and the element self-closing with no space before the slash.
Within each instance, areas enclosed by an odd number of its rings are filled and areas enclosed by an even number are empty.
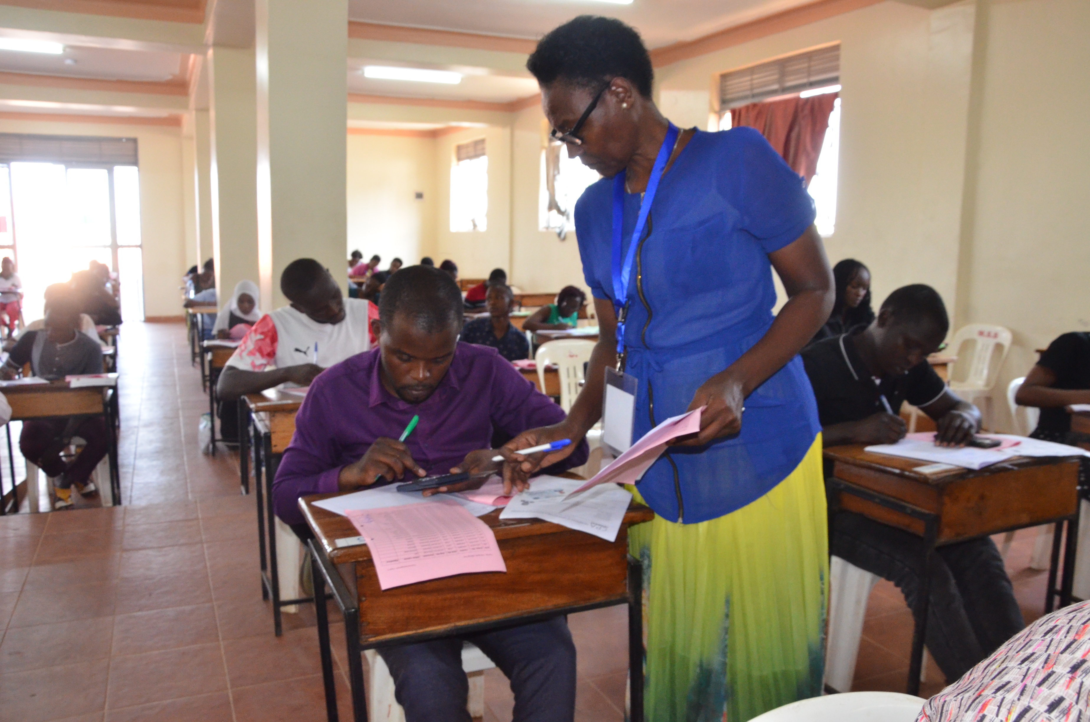
<svg viewBox="0 0 1090 722">
<path fill-rule="evenodd" d="M 295 433 L 295 413 L 303 397 L 267 389 L 247 394 L 239 402 L 239 472 L 242 493 L 250 493 L 250 446 L 254 450 L 254 491 L 257 495 L 257 541 L 262 571 L 262 599 L 272 599 L 272 628 L 279 637 L 283 627 L 280 610 L 303 604 L 306 599 L 280 599 L 277 566 L 276 515 L 272 512 L 272 481 L 280 457 Z M 251 442 L 251 434 L 253 442 Z"/>
</svg>

